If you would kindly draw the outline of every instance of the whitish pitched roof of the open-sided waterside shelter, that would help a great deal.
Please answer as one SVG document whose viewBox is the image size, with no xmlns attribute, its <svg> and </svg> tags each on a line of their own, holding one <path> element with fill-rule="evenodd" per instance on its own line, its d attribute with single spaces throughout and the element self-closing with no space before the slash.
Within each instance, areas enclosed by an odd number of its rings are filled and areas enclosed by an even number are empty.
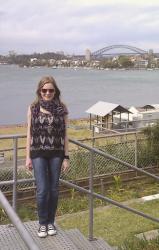
<svg viewBox="0 0 159 250">
<path fill-rule="evenodd" d="M 93 114 L 93 115 L 99 115 L 99 116 L 106 116 L 111 111 L 116 110 L 118 112 L 129 112 L 124 107 L 120 106 L 119 104 L 114 104 L 110 102 L 103 102 L 99 101 L 96 104 L 94 104 L 92 107 L 90 107 L 88 110 L 86 110 L 86 113 Z"/>
</svg>

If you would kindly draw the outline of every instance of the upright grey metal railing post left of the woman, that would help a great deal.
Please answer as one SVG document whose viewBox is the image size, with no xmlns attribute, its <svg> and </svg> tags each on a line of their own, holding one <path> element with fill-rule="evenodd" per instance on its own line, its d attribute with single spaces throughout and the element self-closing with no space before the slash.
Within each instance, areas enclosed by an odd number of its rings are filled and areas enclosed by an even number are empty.
<svg viewBox="0 0 159 250">
<path fill-rule="evenodd" d="M 17 209 L 17 148 L 18 138 L 13 138 L 13 199 L 12 206 L 14 211 Z"/>
</svg>

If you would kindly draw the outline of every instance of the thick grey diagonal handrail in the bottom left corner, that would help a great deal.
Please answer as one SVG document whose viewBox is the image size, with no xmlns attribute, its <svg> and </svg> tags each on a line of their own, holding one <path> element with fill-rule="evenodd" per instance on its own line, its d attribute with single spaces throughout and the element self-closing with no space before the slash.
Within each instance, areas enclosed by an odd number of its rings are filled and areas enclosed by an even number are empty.
<svg viewBox="0 0 159 250">
<path fill-rule="evenodd" d="M 40 250 L 1 190 L 0 190 L 0 204 L 6 211 L 13 225 L 16 227 L 18 233 L 20 234 L 26 246 L 30 250 Z"/>
</svg>

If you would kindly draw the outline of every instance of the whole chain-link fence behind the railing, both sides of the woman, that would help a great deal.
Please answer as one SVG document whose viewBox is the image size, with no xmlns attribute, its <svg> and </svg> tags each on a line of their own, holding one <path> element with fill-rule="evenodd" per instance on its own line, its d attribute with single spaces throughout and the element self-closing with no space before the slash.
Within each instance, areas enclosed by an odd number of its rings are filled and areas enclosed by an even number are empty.
<svg viewBox="0 0 159 250">
<path fill-rule="evenodd" d="M 18 142 L 23 140 L 19 145 L 24 145 L 24 139 L 18 139 Z M 0 140 L 1 141 L 1 140 Z M 106 152 L 120 160 L 139 168 L 156 166 L 157 160 L 148 146 L 147 139 L 143 133 L 123 133 L 107 136 L 98 136 L 93 139 L 82 140 L 84 144 L 95 147 L 103 152 Z M 1 145 L 1 144 L 0 144 Z M 7 147 L 7 146 L 6 146 Z M 28 171 L 25 167 L 24 154 L 25 147 L 18 150 L 18 168 L 17 179 L 28 179 L 33 177 L 33 172 Z M 65 180 L 81 180 L 89 176 L 89 164 L 91 153 L 87 149 L 81 148 L 70 143 L 70 168 L 66 173 L 61 174 L 61 178 Z M 23 151 L 23 153 L 21 152 Z M 4 161 L 0 161 L 0 182 L 13 180 L 13 146 L 9 151 L 3 151 Z M 113 160 L 104 158 L 98 154 L 93 155 L 94 176 L 113 174 L 128 170 L 123 164 Z M 25 190 L 29 187 L 34 187 L 34 183 L 20 183 L 17 185 L 18 190 Z M 2 191 L 11 191 L 12 185 L 1 186 Z"/>
</svg>

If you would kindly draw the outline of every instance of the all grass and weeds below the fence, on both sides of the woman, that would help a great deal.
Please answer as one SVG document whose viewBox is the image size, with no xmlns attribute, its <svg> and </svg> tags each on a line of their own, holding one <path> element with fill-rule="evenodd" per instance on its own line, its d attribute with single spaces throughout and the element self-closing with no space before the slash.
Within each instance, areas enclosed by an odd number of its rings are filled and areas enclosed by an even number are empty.
<svg viewBox="0 0 159 250">
<path fill-rule="evenodd" d="M 157 183 L 145 183 L 135 181 L 132 184 L 121 186 L 121 190 L 116 189 L 116 185 L 105 190 L 105 195 L 117 201 L 126 201 L 130 207 L 143 211 L 154 217 L 159 217 L 159 201 L 154 200 L 145 203 L 138 203 L 134 198 L 158 192 Z M 100 190 L 96 190 L 100 192 Z M 131 202 L 130 202 L 131 200 Z M 101 237 L 108 241 L 110 245 L 131 245 L 135 234 L 153 230 L 158 224 L 138 215 L 115 206 L 106 206 L 108 203 L 98 199 L 94 200 L 94 236 Z M 37 220 L 37 208 L 34 203 L 18 204 L 18 214 L 23 221 Z M 3 210 L 0 210 L 0 224 L 10 223 Z M 79 196 L 72 189 L 71 197 L 60 198 L 57 212 L 57 223 L 63 229 L 78 228 L 88 237 L 88 198 Z M 135 241 L 136 242 L 136 241 Z M 134 244 L 134 243 L 132 243 Z M 139 244 L 139 242 L 135 243 Z M 146 243 L 145 243 L 146 244 Z M 154 243 L 156 244 L 156 243 Z M 147 248 L 123 248 L 122 250 L 140 250 Z M 153 248 L 152 248 L 153 249 Z M 155 249 L 155 248 L 154 248 Z"/>
</svg>

